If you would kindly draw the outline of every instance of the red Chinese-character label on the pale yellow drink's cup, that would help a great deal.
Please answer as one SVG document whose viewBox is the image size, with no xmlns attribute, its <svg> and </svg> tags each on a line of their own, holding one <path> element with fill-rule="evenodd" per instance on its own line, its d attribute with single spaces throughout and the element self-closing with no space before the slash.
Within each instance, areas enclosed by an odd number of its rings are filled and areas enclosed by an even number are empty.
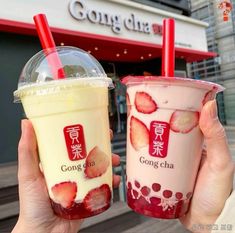
<svg viewBox="0 0 235 233">
<path fill-rule="evenodd" d="M 72 161 L 86 157 L 86 145 L 81 125 L 71 125 L 64 128 L 64 137 L 69 159 Z"/>
</svg>

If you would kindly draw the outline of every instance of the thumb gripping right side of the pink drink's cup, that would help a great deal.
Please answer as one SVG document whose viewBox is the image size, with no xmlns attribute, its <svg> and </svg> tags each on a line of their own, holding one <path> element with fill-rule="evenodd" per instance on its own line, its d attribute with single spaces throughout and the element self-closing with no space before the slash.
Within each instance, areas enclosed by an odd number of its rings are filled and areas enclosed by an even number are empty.
<svg viewBox="0 0 235 233">
<path fill-rule="evenodd" d="M 204 134 L 207 161 L 216 171 L 231 165 L 226 133 L 217 115 L 216 101 L 207 102 L 201 111 L 199 126 Z"/>
</svg>

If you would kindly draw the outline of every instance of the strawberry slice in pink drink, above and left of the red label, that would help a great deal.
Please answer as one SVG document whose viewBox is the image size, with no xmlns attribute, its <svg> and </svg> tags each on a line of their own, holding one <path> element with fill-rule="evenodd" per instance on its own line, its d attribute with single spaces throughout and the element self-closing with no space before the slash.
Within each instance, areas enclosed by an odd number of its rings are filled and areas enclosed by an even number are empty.
<svg viewBox="0 0 235 233">
<path fill-rule="evenodd" d="M 157 110 L 157 104 L 152 97 L 146 92 L 136 92 L 135 94 L 135 107 L 138 112 L 150 114 Z"/>
</svg>

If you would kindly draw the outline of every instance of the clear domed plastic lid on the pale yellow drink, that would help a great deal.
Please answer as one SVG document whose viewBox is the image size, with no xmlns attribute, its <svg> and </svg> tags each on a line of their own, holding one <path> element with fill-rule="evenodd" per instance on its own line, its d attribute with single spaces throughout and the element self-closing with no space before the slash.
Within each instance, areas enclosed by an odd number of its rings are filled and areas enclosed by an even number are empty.
<svg viewBox="0 0 235 233">
<path fill-rule="evenodd" d="M 23 92 L 27 95 L 28 89 L 43 88 L 45 84 L 55 82 L 60 86 L 67 80 L 114 87 L 112 80 L 91 54 L 75 47 L 60 46 L 42 50 L 26 63 L 19 78 L 18 89 L 14 92 L 15 102 L 19 101 Z"/>
</svg>

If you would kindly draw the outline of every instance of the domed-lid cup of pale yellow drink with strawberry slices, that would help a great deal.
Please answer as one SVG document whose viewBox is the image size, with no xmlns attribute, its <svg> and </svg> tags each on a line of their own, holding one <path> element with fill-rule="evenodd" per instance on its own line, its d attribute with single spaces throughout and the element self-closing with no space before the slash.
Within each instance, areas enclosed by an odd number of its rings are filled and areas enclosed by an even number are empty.
<svg viewBox="0 0 235 233">
<path fill-rule="evenodd" d="M 63 79 L 54 80 L 52 74 L 55 53 L 63 65 Z M 51 204 L 62 218 L 90 217 L 111 205 L 112 87 L 98 61 L 74 47 L 40 51 L 21 73 L 15 102 L 22 102 L 33 124 Z"/>
</svg>

